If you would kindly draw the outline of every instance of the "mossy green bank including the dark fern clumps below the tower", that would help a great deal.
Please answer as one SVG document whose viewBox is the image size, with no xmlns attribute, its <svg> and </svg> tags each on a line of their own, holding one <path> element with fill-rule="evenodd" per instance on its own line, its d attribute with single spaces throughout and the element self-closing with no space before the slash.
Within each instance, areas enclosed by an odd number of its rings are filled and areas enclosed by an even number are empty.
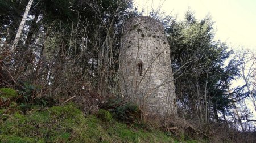
<svg viewBox="0 0 256 143">
<path fill-rule="evenodd" d="M 108 110 L 85 116 L 73 102 L 49 107 L 24 100 L 26 94 L 1 89 L 9 104 L 0 107 L 0 142 L 198 142 L 146 129 L 131 103 L 108 102 Z M 22 101 L 30 105 L 26 110 Z"/>
</svg>

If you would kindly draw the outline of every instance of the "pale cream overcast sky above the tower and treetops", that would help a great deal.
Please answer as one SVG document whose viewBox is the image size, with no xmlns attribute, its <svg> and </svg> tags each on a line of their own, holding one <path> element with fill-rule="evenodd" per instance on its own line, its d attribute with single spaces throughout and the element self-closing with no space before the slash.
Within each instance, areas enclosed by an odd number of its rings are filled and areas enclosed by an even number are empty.
<svg viewBox="0 0 256 143">
<path fill-rule="evenodd" d="M 256 50 L 256 0 L 134 0 L 134 3 L 145 10 L 161 6 L 167 14 L 177 14 L 179 20 L 184 19 L 188 7 L 197 19 L 210 14 L 215 21 L 216 39 L 232 48 Z"/>
</svg>

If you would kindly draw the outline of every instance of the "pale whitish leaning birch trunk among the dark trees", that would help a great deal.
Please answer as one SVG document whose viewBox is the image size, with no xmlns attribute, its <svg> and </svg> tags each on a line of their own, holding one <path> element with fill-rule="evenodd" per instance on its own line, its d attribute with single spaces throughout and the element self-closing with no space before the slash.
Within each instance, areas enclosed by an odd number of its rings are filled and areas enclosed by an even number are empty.
<svg viewBox="0 0 256 143">
<path fill-rule="evenodd" d="M 21 35 L 21 33 L 22 33 L 23 27 L 24 27 L 24 25 L 25 25 L 25 23 L 26 23 L 27 15 L 28 15 L 28 12 L 30 11 L 32 2 L 33 2 L 33 0 L 30 0 L 30 1 L 28 2 L 27 7 L 26 7 L 26 10 L 25 10 L 25 12 L 24 12 L 24 14 L 23 14 L 22 21 L 21 21 L 20 24 L 19 24 L 19 29 L 18 29 L 18 32 L 17 32 L 16 37 L 15 37 L 15 39 L 14 39 L 14 42 L 13 42 L 13 53 L 15 52 L 15 48 L 16 48 L 16 46 L 17 46 L 17 44 L 18 44 L 18 41 L 19 41 L 20 35 Z"/>
</svg>

